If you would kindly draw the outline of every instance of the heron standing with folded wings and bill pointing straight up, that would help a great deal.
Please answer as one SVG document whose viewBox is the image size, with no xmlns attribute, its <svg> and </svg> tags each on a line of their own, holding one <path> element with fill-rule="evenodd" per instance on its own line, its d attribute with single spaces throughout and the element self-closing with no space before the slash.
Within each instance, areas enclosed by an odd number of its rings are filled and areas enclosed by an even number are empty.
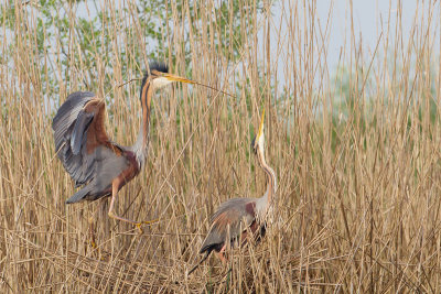
<svg viewBox="0 0 441 294">
<path fill-rule="evenodd" d="M 227 246 L 235 242 L 244 244 L 249 235 L 255 238 L 262 237 L 266 230 L 266 217 L 277 190 L 277 178 L 275 171 L 265 161 L 265 135 L 263 135 L 265 109 L 261 116 L 259 131 L 252 140 L 251 146 L 255 155 L 263 170 L 267 178 L 267 192 L 260 198 L 235 198 L 223 203 L 211 219 L 209 232 L 206 236 L 200 253 L 205 257 L 190 272 L 205 261 L 212 251 L 225 262 L 224 252 Z"/>
</svg>

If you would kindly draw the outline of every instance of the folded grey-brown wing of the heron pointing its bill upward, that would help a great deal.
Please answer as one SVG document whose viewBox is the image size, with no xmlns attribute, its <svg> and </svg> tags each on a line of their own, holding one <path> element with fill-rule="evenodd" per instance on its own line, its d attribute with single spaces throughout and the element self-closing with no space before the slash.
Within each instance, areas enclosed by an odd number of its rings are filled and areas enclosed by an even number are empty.
<svg viewBox="0 0 441 294">
<path fill-rule="evenodd" d="M 223 203 L 212 217 L 212 226 L 200 253 L 219 250 L 219 244 L 224 244 L 228 233 L 232 240 L 237 239 L 256 219 L 255 208 L 256 199 L 250 198 L 235 198 Z"/>
</svg>

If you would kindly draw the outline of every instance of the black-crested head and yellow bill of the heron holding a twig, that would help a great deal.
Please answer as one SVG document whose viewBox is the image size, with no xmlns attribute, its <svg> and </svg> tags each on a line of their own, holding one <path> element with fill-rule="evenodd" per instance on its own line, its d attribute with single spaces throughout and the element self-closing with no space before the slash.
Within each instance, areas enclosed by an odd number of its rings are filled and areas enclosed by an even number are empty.
<svg viewBox="0 0 441 294">
<path fill-rule="evenodd" d="M 150 85 L 153 86 L 154 89 L 163 88 L 173 81 L 194 84 L 191 79 L 169 74 L 169 67 L 164 63 L 150 62 L 149 69 L 150 72 L 146 72 L 146 75 L 142 78 L 141 89 L 147 81 L 150 81 Z"/>
</svg>

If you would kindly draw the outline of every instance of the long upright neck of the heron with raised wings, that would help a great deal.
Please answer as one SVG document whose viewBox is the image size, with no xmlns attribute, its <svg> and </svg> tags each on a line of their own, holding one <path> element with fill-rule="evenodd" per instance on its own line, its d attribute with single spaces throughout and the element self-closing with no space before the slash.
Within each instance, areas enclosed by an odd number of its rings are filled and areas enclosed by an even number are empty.
<svg viewBox="0 0 441 294">
<path fill-rule="evenodd" d="M 150 104 L 153 89 L 149 80 L 142 86 L 141 90 L 141 109 L 142 109 L 142 122 L 139 128 L 138 139 L 133 144 L 133 152 L 137 156 L 138 164 L 140 167 L 143 165 L 147 152 L 149 150 L 150 142 Z"/>
</svg>

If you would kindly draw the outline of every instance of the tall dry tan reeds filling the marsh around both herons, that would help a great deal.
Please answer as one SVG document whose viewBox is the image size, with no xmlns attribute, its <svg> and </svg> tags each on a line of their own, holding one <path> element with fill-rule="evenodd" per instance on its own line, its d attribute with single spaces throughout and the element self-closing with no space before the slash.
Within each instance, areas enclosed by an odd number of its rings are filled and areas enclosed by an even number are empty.
<svg viewBox="0 0 441 294">
<path fill-rule="evenodd" d="M 333 20 L 319 20 L 309 2 L 273 3 L 282 11 L 276 19 L 272 3 L 258 14 L 254 1 L 241 1 L 240 20 L 226 15 L 223 28 L 212 14 L 216 1 L 197 2 L 202 18 L 192 25 L 185 10 L 168 7 L 173 25 L 157 45 L 170 50 L 157 57 L 237 99 L 180 85 L 155 95 L 147 166 L 116 208 L 159 219 L 142 235 L 107 217 L 108 199 L 65 205 L 75 188 L 51 129 L 69 92 L 94 90 L 108 97 L 111 138 L 135 141 L 139 81 L 119 85 L 142 75 L 152 47 L 137 3 L 98 3 L 112 18 L 97 19 L 101 34 L 88 52 L 78 45 L 76 13 L 85 12 L 77 3 L 64 6 L 63 41 L 56 31 L 35 35 L 44 8 L 4 3 L 14 13 L 12 25 L 1 19 L 1 292 L 440 293 L 440 4 L 420 3 L 410 32 L 391 7 L 370 51 L 349 9 L 348 51 L 334 73 L 326 61 Z M 223 43 L 236 21 L 240 40 Z M 262 105 L 267 161 L 279 178 L 267 237 L 235 250 L 228 265 L 212 257 L 187 276 L 215 208 L 265 192 L 249 146 Z"/>
</svg>

